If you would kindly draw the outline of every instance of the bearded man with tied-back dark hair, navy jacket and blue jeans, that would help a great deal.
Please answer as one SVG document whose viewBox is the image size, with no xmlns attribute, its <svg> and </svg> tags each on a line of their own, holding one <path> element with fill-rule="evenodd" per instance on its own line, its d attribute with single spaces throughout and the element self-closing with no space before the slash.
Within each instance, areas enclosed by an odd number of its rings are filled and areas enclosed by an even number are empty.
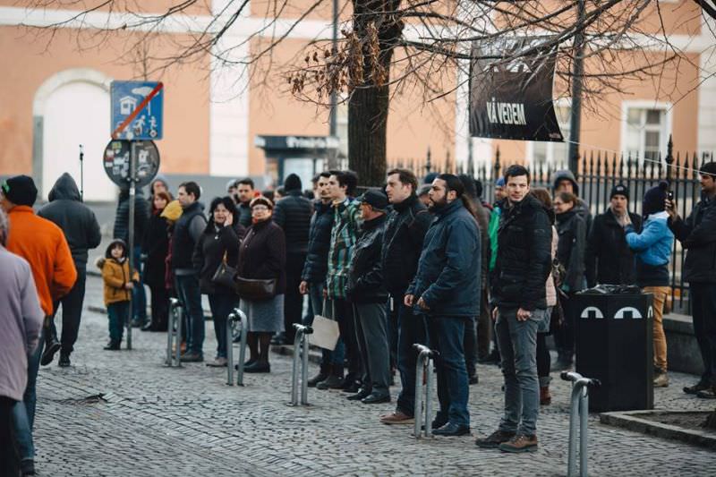
<svg viewBox="0 0 716 477">
<path fill-rule="evenodd" d="M 432 433 L 464 436 L 470 433 L 470 413 L 463 338 L 465 322 L 480 314 L 480 230 L 456 175 L 438 175 L 430 202 L 435 220 L 425 234 L 404 303 L 428 317 L 430 346 L 439 352 L 440 410 Z"/>
</svg>

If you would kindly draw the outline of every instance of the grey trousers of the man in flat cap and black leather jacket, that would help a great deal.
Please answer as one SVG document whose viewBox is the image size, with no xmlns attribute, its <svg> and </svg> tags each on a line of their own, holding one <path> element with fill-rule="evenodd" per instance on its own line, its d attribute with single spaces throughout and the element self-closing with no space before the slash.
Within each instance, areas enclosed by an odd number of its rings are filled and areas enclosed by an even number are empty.
<svg viewBox="0 0 716 477">
<path fill-rule="evenodd" d="M 390 351 L 387 303 L 354 303 L 355 337 L 361 351 L 363 389 L 388 395 Z"/>
</svg>

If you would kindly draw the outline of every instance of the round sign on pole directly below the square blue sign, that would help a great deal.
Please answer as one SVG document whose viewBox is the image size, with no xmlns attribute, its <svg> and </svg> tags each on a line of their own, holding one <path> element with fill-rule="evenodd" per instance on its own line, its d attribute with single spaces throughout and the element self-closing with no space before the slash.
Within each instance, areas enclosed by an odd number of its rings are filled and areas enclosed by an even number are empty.
<svg viewBox="0 0 716 477">
<path fill-rule="evenodd" d="M 107 144 L 102 163 L 109 179 L 125 187 L 130 183 L 130 155 L 134 144 L 134 182 L 137 187 L 148 185 L 159 172 L 159 150 L 154 141 L 112 140 Z"/>
</svg>

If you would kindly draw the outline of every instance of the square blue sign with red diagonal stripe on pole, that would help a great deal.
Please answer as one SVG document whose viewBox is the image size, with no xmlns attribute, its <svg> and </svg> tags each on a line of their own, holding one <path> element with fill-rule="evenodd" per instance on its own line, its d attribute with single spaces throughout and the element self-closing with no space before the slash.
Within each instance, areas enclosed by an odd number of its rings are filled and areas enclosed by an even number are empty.
<svg viewBox="0 0 716 477">
<path fill-rule="evenodd" d="M 112 139 L 162 139 L 164 84 L 157 81 L 112 81 Z"/>
</svg>

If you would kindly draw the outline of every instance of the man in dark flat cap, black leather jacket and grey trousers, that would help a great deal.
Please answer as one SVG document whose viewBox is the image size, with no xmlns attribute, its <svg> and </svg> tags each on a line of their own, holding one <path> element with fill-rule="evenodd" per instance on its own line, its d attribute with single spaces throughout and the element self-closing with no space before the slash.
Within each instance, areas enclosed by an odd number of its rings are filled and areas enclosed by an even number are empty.
<svg viewBox="0 0 716 477">
<path fill-rule="evenodd" d="M 362 387 L 348 399 L 371 405 L 390 402 L 388 290 L 383 282 L 380 260 L 388 197 L 371 189 L 358 200 L 363 223 L 348 267 L 345 296 L 354 310 L 355 336 L 362 362 Z"/>
</svg>

